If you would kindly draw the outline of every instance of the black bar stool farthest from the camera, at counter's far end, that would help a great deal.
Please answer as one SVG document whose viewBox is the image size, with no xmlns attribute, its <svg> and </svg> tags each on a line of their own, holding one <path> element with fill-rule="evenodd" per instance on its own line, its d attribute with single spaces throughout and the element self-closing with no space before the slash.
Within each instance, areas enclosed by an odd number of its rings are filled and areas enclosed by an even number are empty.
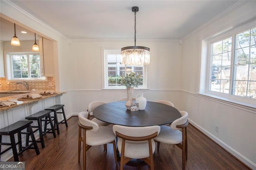
<svg viewBox="0 0 256 170">
<path fill-rule="evenodd" d="M 57 112 L 60 109 L 62 109 L 62 112 Z M 54 105 L 54 106 L 49 107 L 49 108 L 44 109 L 44 110 L 54 112 L 54 116 L 52 118 L 54 118 L 54 127 L 56 126 L 58 134 L 60 134 L 60 129 L 59 129 L 59 124 L 60 123 L 65 123 L 66 127 L 68 127 L 68 122 L 67 122 L 65 111 L 64 111 L 64 105 Z M 63 114 L 64 119 L 60 122 L 58 122 L 57 113 Z M 44 128 L 46 128 L 46 126 L 44 126 Z"/>
</svg>

